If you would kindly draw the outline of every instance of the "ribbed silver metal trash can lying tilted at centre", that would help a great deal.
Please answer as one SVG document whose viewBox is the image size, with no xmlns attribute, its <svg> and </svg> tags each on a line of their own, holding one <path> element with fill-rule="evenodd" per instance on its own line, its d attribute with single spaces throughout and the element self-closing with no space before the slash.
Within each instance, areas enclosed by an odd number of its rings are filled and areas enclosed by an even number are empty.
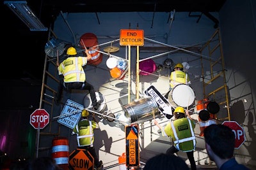
<svg viewBox="0 0 256 170">
<path fill-rule="evenodd" d="M 124 106 L 125 117 L 131 119 L 131 123 L 137 124 L 152 120 L 159 115 L 159 110 L 156 101 L 152 97 L 132 101 Z"/>
</svg>

